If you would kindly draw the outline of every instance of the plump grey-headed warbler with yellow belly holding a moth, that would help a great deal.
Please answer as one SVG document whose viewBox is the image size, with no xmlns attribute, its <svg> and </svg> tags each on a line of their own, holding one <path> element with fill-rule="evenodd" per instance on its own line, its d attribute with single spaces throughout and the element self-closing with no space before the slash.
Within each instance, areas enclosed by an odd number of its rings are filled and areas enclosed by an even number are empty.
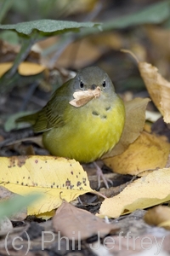
<svg viewBox="0 0 170 256">
<path fill-rule="evenodd" d="M 80 106 L 71 103 L 77 102 L 74 93 L 80 94 Z M 118 143 L 125 108 L 107 73 L 86 67 L 55 90 L 42 110 L 17 121 L 29 122 L 35 132 L 42 132 L 42 143 L 50 154 L 89 163 Z"/>
</svg>

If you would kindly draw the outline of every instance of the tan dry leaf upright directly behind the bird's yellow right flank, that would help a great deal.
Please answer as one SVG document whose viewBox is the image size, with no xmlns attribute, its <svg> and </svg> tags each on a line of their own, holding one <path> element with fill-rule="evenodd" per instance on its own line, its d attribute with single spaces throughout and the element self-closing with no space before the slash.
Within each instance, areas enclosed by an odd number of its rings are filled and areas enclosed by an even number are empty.
<svg viewBox="0 0 170 256">
<path fill-rule="evenodd" d="M 144 129 L 145 109 L 148 102 L 150 102 L 148 98 L 135 98 L 130 102 L 125 102 L 126 119 L 122 137 L 116 147 L 111 152 L 104 154 L 102 159 L 122 154 L 129 144 L 139 137 L 140 132 Z"/>
</svg>

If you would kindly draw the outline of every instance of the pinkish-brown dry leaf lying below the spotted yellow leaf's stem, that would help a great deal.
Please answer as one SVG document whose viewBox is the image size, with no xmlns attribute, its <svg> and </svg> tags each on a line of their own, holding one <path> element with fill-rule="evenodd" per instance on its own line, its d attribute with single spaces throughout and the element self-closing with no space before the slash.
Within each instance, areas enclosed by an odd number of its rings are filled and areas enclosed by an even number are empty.
<svg viewBox="0 0 170 256">
<path fill-rule="evenodd" d="M 87 239 L 90 236 L 105 236 L 111 230 L 119 230 L 114 224 L 106 224 L 101 218 L 63 201 L 53 218 L 54 230 L 70 240 Z"/>
</svg>

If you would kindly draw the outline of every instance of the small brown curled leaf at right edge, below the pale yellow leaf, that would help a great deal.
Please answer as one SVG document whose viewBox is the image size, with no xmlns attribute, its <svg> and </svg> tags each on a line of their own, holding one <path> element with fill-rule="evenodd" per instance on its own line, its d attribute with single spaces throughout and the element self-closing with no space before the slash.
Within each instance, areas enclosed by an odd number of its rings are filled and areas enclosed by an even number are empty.
<svg viewBox="0 0 170 256">
<path fill-rule="evenodd" d="M 151 208 L 144 214 L 144 221 L 147 224 L 161 226 L 170 230 L 170 208 L 164 206 Z"/>
</svg>

